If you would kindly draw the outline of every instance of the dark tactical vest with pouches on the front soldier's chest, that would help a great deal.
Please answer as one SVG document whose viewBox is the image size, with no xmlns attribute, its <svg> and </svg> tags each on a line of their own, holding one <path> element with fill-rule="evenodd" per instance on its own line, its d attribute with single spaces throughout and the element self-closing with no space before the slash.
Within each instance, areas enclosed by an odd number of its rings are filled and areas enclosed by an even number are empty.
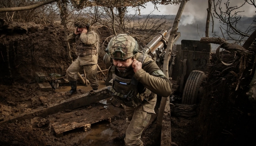
<svg viewBox="0 0 256 146">
<path fill-rule="evenodd" d="M 142 53 L 139 56 L 138 61 L 142 62 L 143 64 L 143 61 L 146 57 L 147 54 L 143 55 Z M 142 104 L 143 101 L 148 101 L 151 91 L 147 88 L 144 88 L 142 93 L 139 93 L 138 81 L 134 78 L 134 76 L 132 76 L 131 79 L 118 77 L 115 73 L 116 67 L 114 65 L 112 65 L 111 67 L 111 72 L 113 77 L 113 83 L 112 87 L 108 87 L 108 91 L 119 103 L 135 108 L 138 105 Z"/>
</svg>

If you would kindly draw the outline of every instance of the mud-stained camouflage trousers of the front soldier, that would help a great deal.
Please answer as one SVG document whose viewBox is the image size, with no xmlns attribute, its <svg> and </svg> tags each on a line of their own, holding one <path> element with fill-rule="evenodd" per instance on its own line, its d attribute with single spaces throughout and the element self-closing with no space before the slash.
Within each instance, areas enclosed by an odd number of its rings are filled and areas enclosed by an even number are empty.
<svg viewBox="0 0 256 146">
<path fill-rule="evenodd" d="M 136 108 L 124 105 L 124 110 L 127 115 L 126 122 L 129 123 L 124 138 L 125 146 L 143 146 L 140 136 L 147 126 L 152 113 L 155 114 L 154 108 L 156 103 L 157 95 L 147 103 L 142 103 L 142 105 Z"/>
</svg>

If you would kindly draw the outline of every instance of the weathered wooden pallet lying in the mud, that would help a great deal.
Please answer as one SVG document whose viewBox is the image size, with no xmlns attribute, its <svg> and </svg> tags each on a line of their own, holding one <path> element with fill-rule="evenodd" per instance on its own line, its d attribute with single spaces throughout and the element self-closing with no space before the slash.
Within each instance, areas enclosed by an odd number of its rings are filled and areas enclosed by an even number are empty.
<svg viewBox="0 0 256 146">
<path fill-rule="evenodd" d="M 63 132 L 83 127 L 84 131 L 91 130 L 91 124 L 108 120 L 111 122 L 112 115 L 103 107 L 93 107 L 90 110 L 78 110 L 58 115 L 56 118 L 50 118 L 56 137 L 63 137 Z"/>
</svg>

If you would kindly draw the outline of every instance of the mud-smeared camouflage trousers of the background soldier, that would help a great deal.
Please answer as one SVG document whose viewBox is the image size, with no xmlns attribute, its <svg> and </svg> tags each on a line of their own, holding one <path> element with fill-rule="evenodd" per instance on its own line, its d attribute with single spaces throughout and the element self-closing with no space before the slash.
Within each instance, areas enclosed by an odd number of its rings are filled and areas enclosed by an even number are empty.
<svg viewBox="0 0 256 146">
<path fill-rule="evenodd" d="M 80 67 L 80 61 L 78 58 L 68 67 L 66 71 L 68 81 L 76 80 L 75 74 L 79 72 Z M 83 65 L 83 68 L 86 72 L 86 78 L 90 82 L 90 86 L 92 88 L 98 88 L 99 85 L 96 80 L 97 64 Z"/>
</svg>

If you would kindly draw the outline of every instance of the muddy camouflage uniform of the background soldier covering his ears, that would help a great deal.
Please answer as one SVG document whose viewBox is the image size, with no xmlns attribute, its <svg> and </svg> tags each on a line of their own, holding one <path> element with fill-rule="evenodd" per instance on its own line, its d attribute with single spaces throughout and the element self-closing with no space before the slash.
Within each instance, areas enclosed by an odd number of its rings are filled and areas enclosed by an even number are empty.
<svg viewBox="0 0 256 146">
<path fill-rule="evenodd" d="M 99 86 L 96 80 L 99 47 L 98 34 L 94 31 L 82 32 L 80 35 L 70 34 L 67 41 L 76 43 L 78 53 L 78 58 L 67 69 L 67 79 L 69 81 L 76 80 L 75 74 L 79 72 L 80 66 L 83 66 L 91 87 L 97 89 Z"/>
</svg>

